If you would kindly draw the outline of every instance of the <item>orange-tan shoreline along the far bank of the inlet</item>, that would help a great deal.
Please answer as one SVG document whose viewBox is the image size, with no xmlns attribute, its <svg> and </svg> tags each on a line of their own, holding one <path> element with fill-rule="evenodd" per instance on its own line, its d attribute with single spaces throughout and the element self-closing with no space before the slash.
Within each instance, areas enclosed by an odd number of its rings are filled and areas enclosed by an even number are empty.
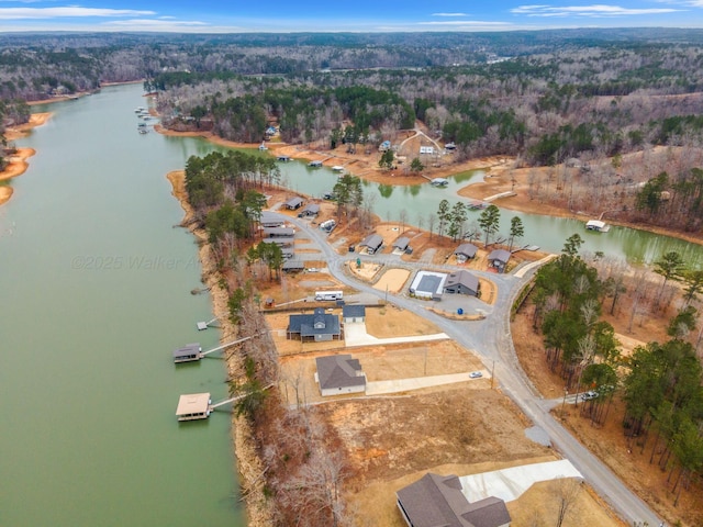
<svg viewBox="0 0 703 527">
<path fill-rule="evenodd" d="M 205 141 L 209 141 L 219 146 L 225 146 L 230 148 L 249 148 L 257 149 L 258 144 L 252 143 L 236 143 L 233 141 L 223 139 L 217 135 L 213 134 L 210 131 L 202 132 L 175 132 L 170 130 L 166 130 L 160 125 L 154 126 L 154 130 L 159 134 L 174 136 L 174 137 L 201 137 Z M 344 156 L 336 152 L 319 152 L 313 149 L 308 149 L 302 147 L 301 145 L 289 145 L 286 143 L 267 143 L 269 150 L 280 152 L 282 155 L 287 155 L 293 159 L 309 159 L 309 160 L 322 160 L 325 159 L 325 166 L 341 165 L 346 160 L 347 164 L 357 162 L 357 159 L 350 156 Z M 592 218 L 593 215 L 589 215 L 587 212 L 573 212 L 567 209 L 550 205 L 548 203 L 542 203 L 537 200 L 532 200 L 527 195 L 527 170 L 515 170 L 513 171 L 514 184 L 511 176 L 509 176 L 509 171 L 511 170 L 511 162 L 513 158 L 507 156 L 493 156 L 493 157 L 482 157 L 477 159 L 471 159 L 468 161 L 459 162 L 456 165 L 450 165 L 447 167 L 442 167 L 440 169 L 434 169 L 432 171 L 433 178 L 439 177 L 448 177 L 457 173 L 470 171 L 470 170 L 483 170 L 487 172 L 484 181 L 478 183 L 469 183 L 465 187 L 461 187 L 457 191 L 457 195 L 470 200 L 484 200 L 488 197 L 495 195 L 506 191 L 514 191 L 515 195 L 501 198 L 492 203 L 515 212 L 522 212 L 525 214 L 536 214 L 540 216 L 555 216 L 555 217 L 566 217 L 571 220 L 582 221 L 584 224 L 588 220 Z M 377 182 L 380 184 L 392 184 L 392 186 L 408 186 L 408 184 L 425 184 L 429 183 L 429 179 L 424 176 L 394 176 L 392 173 L 382 172 L 380 169 L 373 169 L 369 164 L 366 164 L 364 170 L 353 173 L 364 180 Z M 539 168 L 539 167 L 537 167 Z M 517 172 L 517 173 L 515 173 Z M 621 221 L 607 221 L 606 223 L 611 225 L 616 225 L 621 227 L 633 228 L 635 231 L 645 231 L 652 234 L 669 236 L 671 238 L 682 239 L 684 242 L 703 245 L 703 237 L 693 236 L 687 233 L 681 233 L 677 231 L 667 229 L 661 226 L 656 225 L 644 225 Z M 643 228 L 646 227 L 646 228 Z"/>
</svg>

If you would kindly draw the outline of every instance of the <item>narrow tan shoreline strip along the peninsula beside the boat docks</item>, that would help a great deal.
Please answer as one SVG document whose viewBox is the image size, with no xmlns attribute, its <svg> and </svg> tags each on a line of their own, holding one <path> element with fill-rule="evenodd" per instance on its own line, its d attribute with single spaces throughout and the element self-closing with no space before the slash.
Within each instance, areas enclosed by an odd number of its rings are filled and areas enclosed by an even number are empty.
<svg viewBox="0 0 703 527">
<path fill-rule="evenodd" d="M 178 200 L 183 210 L 183 218 L 180 226 L 188 228 L 198 240 L 198 258 L 202 266 L 202 282 L 210 291 L 213 314 L 217 316 L 222 327 L 220 343 L 225 344 L 237 337 L 237 329 L 230 318 L 221 316 L 227 313 L 227 292 L 220 287 L 220 273 L 216 261 L 212 255 L 208 235 L 203 228 L 193 223 L 193 209 L 188 201 L 186 191 L 185 170 L 174 170 L 166 175 L 171 183 L 171 195 Z M 226 359 L 227 378 L 234 379 L 244 374 L 244 368 L 237 354 L 231 354 Z M 256 451 L 256 438 L 254 429 L 244 417 L 232 414 L 232 444 L 236 459 L 238 486 L 242 493 L 241 500 L 245 504 L 245 515 L 248 527 L 266 527 L 272 525 L 271 514 L 266 506 L 264 479 L 260 474 L 265 471 L 264 464 Z"/>
</svg>

